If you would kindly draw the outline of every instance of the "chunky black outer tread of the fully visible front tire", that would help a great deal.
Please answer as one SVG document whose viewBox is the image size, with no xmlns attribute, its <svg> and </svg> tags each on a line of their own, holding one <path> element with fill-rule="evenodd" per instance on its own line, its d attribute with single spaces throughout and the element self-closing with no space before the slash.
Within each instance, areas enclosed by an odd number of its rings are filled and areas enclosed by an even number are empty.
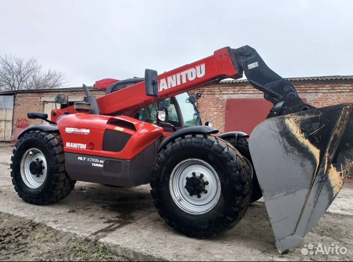
<svg viewBox="0 0 353 262">
<path fill-rule="evenodd" d="M 166 159 L 173 157 L 173 149 L 190 146 L 200 145 L 208 147 L 219 154 L 223 159 L 226 159 L 226 164 L 231 167 L 230 180 L 235 184 L 236 189 L 236 201 L 232 202 L 231 208 L 217 222 L 198 228 L 182 223 L 177 223 L 173 216 L 169 214 L 167 207 L 163 201 L 163 196 L 160 191 L 161 181 L 161 167 Z M 235 153 L 234 153 L 235 152 Z M 239 165 L 240 163 L 240 165 Z M 220 235 L 222 232 L 235 226 L 242 216 L 246 213 L 250 204 L 250 191 L 251 191 L 251 179 L 248 174 L 249 170 L 244 168 L 246 165 L 242 160 L 241 155 L 237 150 L 234 150 L 232 145 L 225 142 L 220 138 L 216 138 L 210 135 L 192 134 L 184 137 L 176 138 L 176 140 L 168 143 L 158 154 L 155 165 L 151 173 L 151 196 L 153 203 L 158 214 L 165 220 L 165 222 L 173 227 L 176 231 L 188 236 L 196 238 L 210 238 Z"/>
</svg>

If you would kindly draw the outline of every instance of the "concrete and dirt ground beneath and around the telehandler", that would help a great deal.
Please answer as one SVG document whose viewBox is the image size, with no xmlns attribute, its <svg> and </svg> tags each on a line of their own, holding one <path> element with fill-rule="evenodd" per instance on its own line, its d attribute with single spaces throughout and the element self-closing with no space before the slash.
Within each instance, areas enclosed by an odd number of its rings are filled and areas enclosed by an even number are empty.
<svg viewBox="0 0 353 262">
<path fill-rule="evenodd" d="M 156 213 L 148 185 L 112 188 L 78 182 L 75 190 L 58 203 L 29 205 L 13 189 L 11 151 L 11 147 L 0 145 L 1 261 L 353 260 L 352 180 L 346 182 L 303 243 L 279 254 L 262 201 L 253 203 L 233 229 L 212 239 L 187 238 L 167 226 Z M 325 248 L 333 244 L 345 247 L 347 253 L 303 255 L 302 249 L 311 244 Z"/>
</svg>

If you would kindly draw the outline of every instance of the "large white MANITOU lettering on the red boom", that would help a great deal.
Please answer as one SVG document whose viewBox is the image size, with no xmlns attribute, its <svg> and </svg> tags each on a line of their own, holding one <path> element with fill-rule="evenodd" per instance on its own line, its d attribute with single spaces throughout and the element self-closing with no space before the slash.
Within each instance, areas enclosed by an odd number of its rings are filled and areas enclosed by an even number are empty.
<svg viewBox="0 0 353 262">
<path fill-rule="evenodd" d="M 196 78 L 201 78 L 206 74 L 205 64 L 187 69 L 180 73 L 172 74 L 167 77 L 163 77 L 159 80 L 159 90 L 167 90 L 181 84 L 185 84 L 188 81 L 193 81 Z"/>
</svg>

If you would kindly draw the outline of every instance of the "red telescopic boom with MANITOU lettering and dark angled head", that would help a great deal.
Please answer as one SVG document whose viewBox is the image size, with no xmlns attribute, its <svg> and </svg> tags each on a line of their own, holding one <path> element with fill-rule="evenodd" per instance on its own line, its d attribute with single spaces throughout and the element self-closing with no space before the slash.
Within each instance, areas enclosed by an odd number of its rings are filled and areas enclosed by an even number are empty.
<svg viewBox="0 0 353 262">
<path fill-rule="evenodd" d="M 262 91 L 265 99 L 274 104 L 268 118 L 314 108 L 305 104 L 295 87 L 272 71 L 256 50 L 249 46 L 222 48 L 211 56 L 158 75 L 158 96 L 167 98 L 225 78 L 238 79 L 243 73 L 252 86 Z M 103 95 L 97 98 L 97 102 L 101 114 L 112 115 L 148 106 L 158 99 L 146 95 L 143 81 Z M 72 112 L 71 109 L 68 111 Z"/>
</svg>

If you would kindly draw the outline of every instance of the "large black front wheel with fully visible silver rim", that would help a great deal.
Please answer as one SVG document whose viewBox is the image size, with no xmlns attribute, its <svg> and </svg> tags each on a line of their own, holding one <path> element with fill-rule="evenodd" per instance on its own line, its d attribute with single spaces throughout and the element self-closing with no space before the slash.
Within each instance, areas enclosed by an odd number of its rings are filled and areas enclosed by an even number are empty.
<svg viewBox="0 0 353 262">
<path fill-rule="evenodd" d="M 201 176 L 200 170 L 206 173 Z M 196 194 L 190 196 L 183 183 L 200 177 L 209 192 L 202 191 L 200 198 Z M 207 184 L 206 179 L 210 180 Z M 243 217 L 250 204 L 251 177 L 242 156 L 232 146 L 210 135 L 194 134 L 177 138 L 159 152 L 152 169 L 151 188 L 158 214 L 168 225 L 188 237 L 207 238 L 230 229 Z M 207 204 L 209 196 L 212 200 Z M 197 204 L 189 207 L 192 201 Z M 198 206 L 196 201 L 205 202 Z"/>
</svg>

